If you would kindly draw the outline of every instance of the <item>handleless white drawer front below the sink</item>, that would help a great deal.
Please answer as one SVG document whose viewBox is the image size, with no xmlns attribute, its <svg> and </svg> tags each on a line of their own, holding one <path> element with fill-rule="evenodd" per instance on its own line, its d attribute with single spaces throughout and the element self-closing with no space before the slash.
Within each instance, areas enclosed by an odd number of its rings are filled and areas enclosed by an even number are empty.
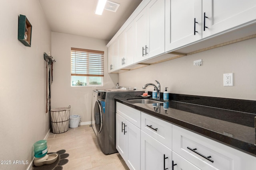
<svg viewBox="0 0 256 170">
<path fill-rule="evenodd" d="M 116 102 L 116 113 L 140 128 L 140 111 Z"/>
</svg>

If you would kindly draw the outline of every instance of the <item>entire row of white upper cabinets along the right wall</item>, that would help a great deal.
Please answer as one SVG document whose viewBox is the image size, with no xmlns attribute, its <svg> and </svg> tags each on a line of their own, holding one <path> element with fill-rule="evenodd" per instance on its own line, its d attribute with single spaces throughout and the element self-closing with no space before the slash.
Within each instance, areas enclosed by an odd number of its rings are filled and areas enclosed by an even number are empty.
<svg viewBox="0 0 256 170">
<path fill-rule="evenodd" d="M 254 35 L 255 11 L 256 0 L 143 0 L 107 45 L 108 72 Z"/>
</svg>

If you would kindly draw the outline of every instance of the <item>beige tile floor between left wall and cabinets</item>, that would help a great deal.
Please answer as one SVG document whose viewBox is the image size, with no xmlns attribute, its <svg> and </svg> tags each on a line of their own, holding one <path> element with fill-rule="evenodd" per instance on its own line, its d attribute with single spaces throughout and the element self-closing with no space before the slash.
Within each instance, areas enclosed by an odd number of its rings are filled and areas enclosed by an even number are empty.
<svg viewBox="0 0 256 170">
<path fill-rule="evenodd" d="M 65 149 L 69 154 L 63 170 L 129 170 L 119 153 L 102 153 L 89 125 L 69 128 L 65 133 L 50 133 L 47 146 L 48 152 Z"/>
</svg>

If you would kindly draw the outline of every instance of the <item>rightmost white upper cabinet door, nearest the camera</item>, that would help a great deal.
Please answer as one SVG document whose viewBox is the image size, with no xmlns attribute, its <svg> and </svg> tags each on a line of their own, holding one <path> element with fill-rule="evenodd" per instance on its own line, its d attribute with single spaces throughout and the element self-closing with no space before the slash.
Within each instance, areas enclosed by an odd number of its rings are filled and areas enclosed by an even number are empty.
<svg viewBox="0 0 256 170">
<path fill-rule="evenodd" d="M 202 9 L 203 38 L 256 19 L 255 0 L 203 0 Z"/>
</svg>

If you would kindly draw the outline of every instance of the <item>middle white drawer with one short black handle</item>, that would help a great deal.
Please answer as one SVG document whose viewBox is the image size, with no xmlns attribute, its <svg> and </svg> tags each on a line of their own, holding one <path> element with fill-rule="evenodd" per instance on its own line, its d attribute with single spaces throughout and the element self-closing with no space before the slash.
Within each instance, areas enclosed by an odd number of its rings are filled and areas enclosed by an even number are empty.
<svg viewBox="0 0 256 170">
<path fill-rule="evenodd" d="M 141 112 L 141 130 L 172 149 L 172 124 Z"/>
</svg>

